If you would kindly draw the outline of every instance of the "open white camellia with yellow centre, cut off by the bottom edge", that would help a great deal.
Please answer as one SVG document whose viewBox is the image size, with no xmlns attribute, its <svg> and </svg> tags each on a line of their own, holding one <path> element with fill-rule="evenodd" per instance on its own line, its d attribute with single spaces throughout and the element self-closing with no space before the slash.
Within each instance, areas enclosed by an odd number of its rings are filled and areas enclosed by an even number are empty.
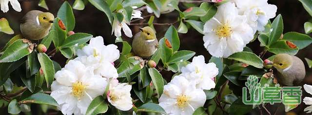
<svg viewBox="0 0 312 115">
<path fill-rule="evenodd" d="M 204 105 L 206 94 L 197 89 L 194 82 L 179 75 L 164 86 L 158 101 L 169 115 L 192 115 L 198 107 Z"/>
</svg>

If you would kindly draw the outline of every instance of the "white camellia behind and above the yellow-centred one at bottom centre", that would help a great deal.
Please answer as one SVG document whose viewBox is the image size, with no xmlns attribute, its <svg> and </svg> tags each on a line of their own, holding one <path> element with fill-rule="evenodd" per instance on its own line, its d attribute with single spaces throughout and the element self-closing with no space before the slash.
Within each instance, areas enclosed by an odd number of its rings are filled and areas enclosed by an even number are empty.
<svg viewBox="0 0 312 115">
<path fill-rule="evenodd" d="M 181 68 L 182 76 L 189 81 L 194 81 L 199 89 L 210 90 L 215 88 L 214 78 L 218 75 L 215 63 L 205 63 L 202 55 L 193 58 L 191 64 Z"/>
</svg>

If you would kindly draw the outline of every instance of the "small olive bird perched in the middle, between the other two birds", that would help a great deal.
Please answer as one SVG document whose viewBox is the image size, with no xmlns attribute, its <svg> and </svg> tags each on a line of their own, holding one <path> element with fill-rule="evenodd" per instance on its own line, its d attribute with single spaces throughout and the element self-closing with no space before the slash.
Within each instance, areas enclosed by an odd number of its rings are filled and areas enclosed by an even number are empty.
<svg viewBox="0 0 312 115">
<path fill-rule="evenodd" d="M 139 28 L 132 42 L 134 53 L 142 58 L 149 58 L 158 49 L 158 40 L 155 31 L 151 27 Z"/>
</svg>

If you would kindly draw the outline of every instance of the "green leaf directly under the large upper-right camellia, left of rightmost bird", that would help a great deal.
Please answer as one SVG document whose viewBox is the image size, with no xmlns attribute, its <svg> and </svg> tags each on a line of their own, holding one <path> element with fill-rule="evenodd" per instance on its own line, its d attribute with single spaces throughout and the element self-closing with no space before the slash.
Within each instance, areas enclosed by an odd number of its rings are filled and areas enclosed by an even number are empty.
<svg viewBox="0 0 312 115">
<path fill-rule="evenodd" d="M 228 59 L 240 61 L 257 68 L 263 67 L 263 61 L 261 60 L 261 58 L 251 52 L 246 51 L 236 52 L 230 55 Z"/>
</svg>

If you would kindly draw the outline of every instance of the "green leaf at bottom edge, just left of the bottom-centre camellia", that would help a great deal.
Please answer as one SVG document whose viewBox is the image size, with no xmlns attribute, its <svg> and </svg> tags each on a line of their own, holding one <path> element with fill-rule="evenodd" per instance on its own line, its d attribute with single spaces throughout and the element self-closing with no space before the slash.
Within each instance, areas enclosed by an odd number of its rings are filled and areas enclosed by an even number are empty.
<svg viewBox="0 0 312 115">
<path fill-rule="evenodd" d="M 145 103 L 137 108 L 137 112 L 154 112 L 167 115 L 165 110 L 156 103 Z"/>
</svg>

